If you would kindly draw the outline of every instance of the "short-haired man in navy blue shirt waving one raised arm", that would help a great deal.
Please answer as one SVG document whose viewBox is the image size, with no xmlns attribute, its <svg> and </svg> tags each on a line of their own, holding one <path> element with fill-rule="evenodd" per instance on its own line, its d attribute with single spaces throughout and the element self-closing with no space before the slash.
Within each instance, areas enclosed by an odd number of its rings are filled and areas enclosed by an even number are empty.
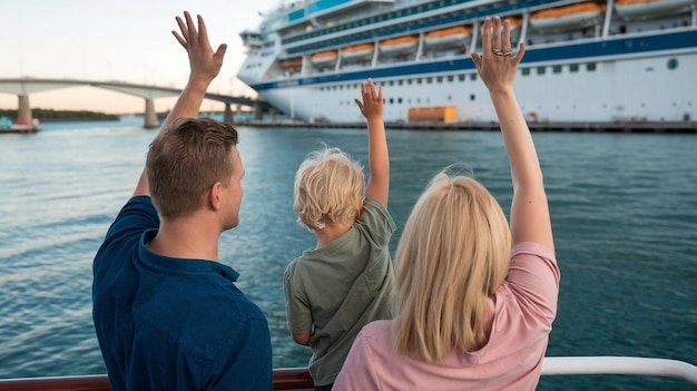
<svg viewBox="0 0 697 391">
<path fill-rule="evenodd" d="M 272 390 L 266 317 L 217 262 L 239 223 L 237 131 L 197 119 L 227 46 L 213 51 L 203 18 L 184 18 L 173 33 L 189 79 L 95 257 L 95 329 L 112 390 Z"/>
</svg>

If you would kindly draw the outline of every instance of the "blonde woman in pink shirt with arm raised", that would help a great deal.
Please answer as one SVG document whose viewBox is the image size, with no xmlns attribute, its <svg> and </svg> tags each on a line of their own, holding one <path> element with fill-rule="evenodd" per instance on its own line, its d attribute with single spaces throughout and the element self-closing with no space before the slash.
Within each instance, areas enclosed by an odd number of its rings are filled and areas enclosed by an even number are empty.
<svg viewBox="0 0 697 391">
<path fill-rule="evenodd" d="M 334 390 L 534 390 L 557 312 L 559 270 L 542 172 L 513 92 L 520 43 L 484 21 L 477 70 L 497 111 L 513 183 L 510 224 L 491 194 L 436 175 L 395 254 L 393 321 L 366 325 Z"/>
</svg>

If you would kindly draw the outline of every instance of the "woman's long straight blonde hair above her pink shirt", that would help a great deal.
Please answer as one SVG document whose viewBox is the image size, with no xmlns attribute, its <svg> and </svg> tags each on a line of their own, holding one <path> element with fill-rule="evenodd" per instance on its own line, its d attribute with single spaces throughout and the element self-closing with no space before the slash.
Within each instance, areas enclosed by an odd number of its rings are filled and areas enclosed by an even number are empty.
<svg viewBox="0 0 697 391">
<path fill-rule="evenodd" d="M 493 196 L 467 176 L 436 175 L 395 254 L 393 349 L 434 362 L 488 341 L 489 299 L 505 278 L 511 233 Z"/>
</svg>

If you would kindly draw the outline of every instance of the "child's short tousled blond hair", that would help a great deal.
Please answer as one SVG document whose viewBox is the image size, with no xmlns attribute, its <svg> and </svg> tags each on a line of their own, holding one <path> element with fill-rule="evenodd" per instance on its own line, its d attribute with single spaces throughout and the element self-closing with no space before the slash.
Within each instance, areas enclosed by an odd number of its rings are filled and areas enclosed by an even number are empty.
<svg viewBox="0 0 697 391">
<path fill-rule="evenodd" d="M 311 153 L 297 169 L 293 208 L 307 229 L 322 231 L 326 223 L 357 217 L 364 187 L 361 164 L 325 146 Z"/>
</svg>

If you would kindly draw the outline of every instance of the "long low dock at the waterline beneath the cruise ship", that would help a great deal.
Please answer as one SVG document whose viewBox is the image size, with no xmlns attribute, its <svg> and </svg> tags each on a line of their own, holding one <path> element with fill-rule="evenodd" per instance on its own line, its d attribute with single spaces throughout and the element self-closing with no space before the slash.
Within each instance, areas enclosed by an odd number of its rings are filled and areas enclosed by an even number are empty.
<svg viewBox="0 0 697 391">
<path fill-rule="evenodd" d="M 283 128 L 365 128 L 365 123 L 307 123 L 300 120 L 249 120 L 239 126 Z M 547 133 L 628 133 L 628 134 L 697 134 L 697 121 L 611 121 L 547 123 L 529 121 L 530 131 Z M 386 129 L 403 130 L 478 130 L 498 131 L 499 123 L 385 123 Z"/>
</svg>

